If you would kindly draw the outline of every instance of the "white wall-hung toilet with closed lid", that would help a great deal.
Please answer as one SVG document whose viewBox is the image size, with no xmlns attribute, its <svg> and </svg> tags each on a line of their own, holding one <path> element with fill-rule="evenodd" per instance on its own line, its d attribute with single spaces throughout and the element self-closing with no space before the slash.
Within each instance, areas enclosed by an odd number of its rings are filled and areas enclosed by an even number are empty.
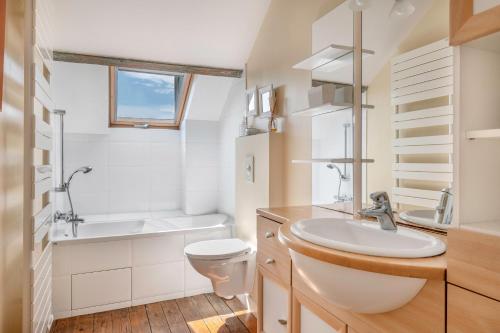
<svg viewBox="0 0 500 333">
<path fill-rule="evenodd" d="M 252 290 L 255 249 L 237 238 L 201 241 L 184 248 L 193 268 L 212 281 L 214 292 L 232 298 Z"/>
</svg>

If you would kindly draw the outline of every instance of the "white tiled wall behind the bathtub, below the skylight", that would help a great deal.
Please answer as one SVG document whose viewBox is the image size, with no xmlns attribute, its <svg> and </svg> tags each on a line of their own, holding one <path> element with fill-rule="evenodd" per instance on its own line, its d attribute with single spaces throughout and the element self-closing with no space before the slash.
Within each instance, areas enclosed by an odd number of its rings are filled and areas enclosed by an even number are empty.
<svg viewBox="0 0 500 333">
<path fill-rule="evenodd" d="M 66 134 L 65 177 L 83 165 L 71 194 L 80 214 L 171 210 L 181 207 L 180 133 L 109 129 L 109 134 Z"/>
</svg>

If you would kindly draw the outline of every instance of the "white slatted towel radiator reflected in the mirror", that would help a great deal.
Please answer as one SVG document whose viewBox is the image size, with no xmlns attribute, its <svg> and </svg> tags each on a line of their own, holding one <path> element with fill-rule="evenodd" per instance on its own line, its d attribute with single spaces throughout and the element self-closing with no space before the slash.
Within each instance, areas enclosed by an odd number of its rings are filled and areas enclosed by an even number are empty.
<svg viewBox="0 0 500 333">
<path fill-rule="evenodd" d="M 448 39 L 404 53 L 391 61 L 391 103 L 395 108 L 392 124 L 394 187 L 392 200 L 401 205 L 434 209 L 440 191 L 410 188 L 404 181 L 453 182 L 453 48 Z M 448 105 L 401 112 L 405 104 L 448 96 Z M 404 130 L 414 131 L 448 126 L 443 135 L 403 137 Z M 430 155 L 447 155 L 447 163 L 428 163 Z M 412 163 L 403 163 L 412 155 Z M 419 162 L 421 161 L 421 162 Z"/>
</svg>

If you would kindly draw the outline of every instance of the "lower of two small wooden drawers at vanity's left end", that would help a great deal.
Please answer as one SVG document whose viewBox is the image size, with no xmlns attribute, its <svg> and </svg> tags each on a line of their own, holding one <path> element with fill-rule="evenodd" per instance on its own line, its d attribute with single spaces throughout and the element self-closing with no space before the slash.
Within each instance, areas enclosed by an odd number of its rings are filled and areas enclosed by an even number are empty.
<svg viewBox="0 0 500 333">
<path fill-rule="evenodd" d="M 288 252 L 283 253 L 267 244 L 260 244 L 257 251 L 257 264 L 279 277 L 286 285 L 291 284 L 292 260 Z"/>
</svg>

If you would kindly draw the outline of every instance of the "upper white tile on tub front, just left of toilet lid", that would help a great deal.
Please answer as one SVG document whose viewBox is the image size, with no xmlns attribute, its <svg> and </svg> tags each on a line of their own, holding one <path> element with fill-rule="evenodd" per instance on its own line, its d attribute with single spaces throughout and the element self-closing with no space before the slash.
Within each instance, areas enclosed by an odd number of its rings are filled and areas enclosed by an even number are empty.
<svg viewBox="0 0 500 333">
<path fill-rule="evenodd" d="M 183 234 L 138 238 L 132 241 L 133 266 L 155 265 L 183 259 Z"/>
</svg>

